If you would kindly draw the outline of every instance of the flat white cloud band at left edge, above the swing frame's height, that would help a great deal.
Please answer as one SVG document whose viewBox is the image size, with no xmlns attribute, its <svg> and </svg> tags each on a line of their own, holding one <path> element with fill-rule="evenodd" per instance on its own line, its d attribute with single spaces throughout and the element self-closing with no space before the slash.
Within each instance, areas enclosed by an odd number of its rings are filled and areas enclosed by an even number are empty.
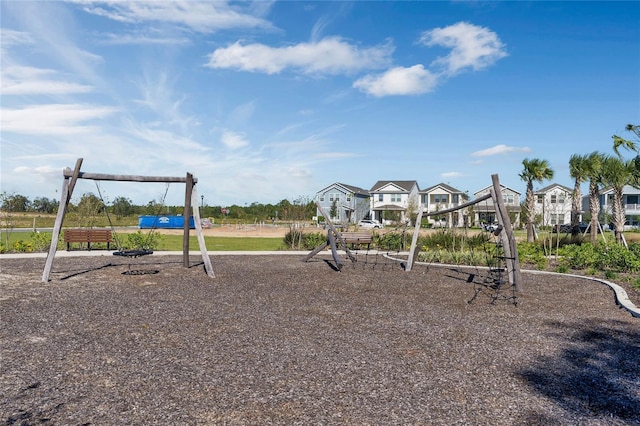
<svg viewBox="0 0 640 426">
<path fill-rule="evenodd" d="M 96 131 L 95 126 L 82 123 L 105 118 L 117 110 L 92 105 L 50 104 L 32 105 L 23 109 L 3 108 L 1 111 L 3 132 L 65 135 Z"/>
</svg>

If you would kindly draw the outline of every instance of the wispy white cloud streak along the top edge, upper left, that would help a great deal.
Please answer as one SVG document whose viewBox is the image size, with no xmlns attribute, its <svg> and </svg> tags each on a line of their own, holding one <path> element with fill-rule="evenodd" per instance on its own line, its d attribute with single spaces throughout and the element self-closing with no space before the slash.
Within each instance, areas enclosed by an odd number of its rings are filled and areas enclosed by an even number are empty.
<svg viewBox="0 0 640 426">
<path fill-rule="evenodd" d="M 79 0 L 83 10 L 93 15 L 129 24 L 163 22 L 184 26 L 201 33 L 230 28 L 271 28 L 272 25 L 256 16 L 268 11 L 272 2 L 262 2 L 261 8 L 243 11 L 241 4 L 231 6 L 226 1 L 85 1 Z"/>
</svg>

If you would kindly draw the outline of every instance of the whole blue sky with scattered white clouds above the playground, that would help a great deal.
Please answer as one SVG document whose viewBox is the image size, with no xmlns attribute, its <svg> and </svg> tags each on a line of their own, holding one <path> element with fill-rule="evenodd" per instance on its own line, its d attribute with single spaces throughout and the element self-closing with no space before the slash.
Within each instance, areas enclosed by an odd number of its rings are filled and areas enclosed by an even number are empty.
<svg viewBox="0 0 640 426">
<path fill-rule="evenodd" d="M 524 193 L 524 158 L 571 187 L 572 154 L 611 152 L 640 122 L 639 2 L 0 7 L 1 189 L 30 199 L 59 199 L 79 157 L 86 172 L 191 172 L 207 205 L 312 198 L 333 182 L 473 193 L 494 173 Z M 136 204 L 164 193 L 101 189 Z"/>
</svg>

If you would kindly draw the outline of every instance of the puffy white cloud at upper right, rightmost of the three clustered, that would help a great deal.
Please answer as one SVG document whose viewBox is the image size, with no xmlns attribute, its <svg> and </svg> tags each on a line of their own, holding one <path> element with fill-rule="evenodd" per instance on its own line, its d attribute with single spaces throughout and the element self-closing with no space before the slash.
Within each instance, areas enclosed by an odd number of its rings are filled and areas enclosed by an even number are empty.
<svg viewBox="0 0 640 426">
<path fill-rule="evenodd" d="M 464 68 L 477 71 L 507 56 L 505 45 L 496 33 L 467 22 L 425 31 L 419 41 L 426 46 L 451 48 L 451 53 L 432 63 L 443 66 L 448 74 L 456 74 Z"/>
</svg>

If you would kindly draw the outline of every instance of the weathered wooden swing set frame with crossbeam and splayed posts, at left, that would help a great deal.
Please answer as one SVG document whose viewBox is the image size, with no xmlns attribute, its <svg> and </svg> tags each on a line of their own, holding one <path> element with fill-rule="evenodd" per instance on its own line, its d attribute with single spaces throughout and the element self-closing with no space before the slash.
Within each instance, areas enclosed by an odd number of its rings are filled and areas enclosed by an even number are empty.
<svg viewBox="0 0 640 426">
<path fill-rule="evenodd" d="M 111 175 L 103 173 L 87 173 L 81 172 L 82 158 L 78 158 L 75 168 L 71 170 L 66 168 L 63 170 L 62 175 L 64 180 L 62 182 L 62 195 L 60 197 L 60 206 L 58 207 L 58 214 L 56 215 L 56 221 L 53 226 L 53 234 L 51 236 L 51 246 L 49 247 L 49 253 L 47 254 L 47 260 L 45 262 L 44 271 L 42 272 L 42 282 L 48 282 L 51 275 L 51 268 L 53 266 L 53 259 L 55 258 L 57 251 L 57 241 L 60 237 L 62 230 L 62 224 L 64 222 L 65 214 L 69 208 L 69 201 L 73 194 L 73 189 L 78 179 L 90 179 L 90 180 L 105 180 L 105 181 L 118 181 L 118 182 L 157 182 L 157 183 L 184 183 L 185 184 L 185 197 L 184 197 L 184 233 L 182 238 L 182 264 L 185 268 L 189 265 L 189 220 L 186 218 L 191 217 L 195 222 L 196 234 L 198 237 L 198 245 L 200 246 L 200 252 L 202 254 L 202 261 L 207 275 L 211 278 L 215 278 L 213 273 L 213 267 L 211 265 L 211 259 L 207 253 L 207 247 L 204 241 L 204 235 L 202 233 L 202 224 L 200 223 L 200 212 L 198 210 L 198 196 L 196 193 L 196 179 L 191 173 L 187 173 L 186 177 L 168 177 L 168 176 L 133 176 L 133 175 Z"/>
</svg>

